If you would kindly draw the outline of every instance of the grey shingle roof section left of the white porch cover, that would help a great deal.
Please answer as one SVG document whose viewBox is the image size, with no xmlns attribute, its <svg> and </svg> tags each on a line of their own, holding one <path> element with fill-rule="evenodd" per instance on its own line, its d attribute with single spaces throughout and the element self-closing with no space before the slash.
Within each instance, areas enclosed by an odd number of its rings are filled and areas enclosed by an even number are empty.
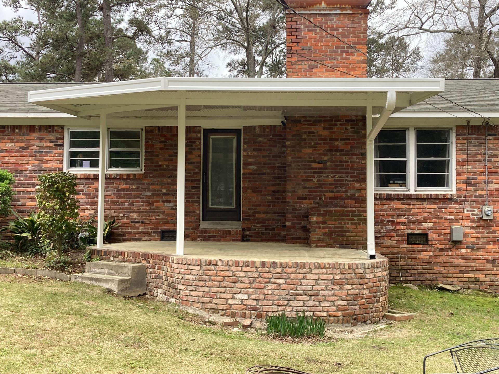
<svg viewBox="0 0 499 374">
<path fill-rule="evenodd" d="M 81 86 L 85 83 L 0 83 L 0 112 L 56 112 L 28 103 L 28 92 Z"/>
</svg>

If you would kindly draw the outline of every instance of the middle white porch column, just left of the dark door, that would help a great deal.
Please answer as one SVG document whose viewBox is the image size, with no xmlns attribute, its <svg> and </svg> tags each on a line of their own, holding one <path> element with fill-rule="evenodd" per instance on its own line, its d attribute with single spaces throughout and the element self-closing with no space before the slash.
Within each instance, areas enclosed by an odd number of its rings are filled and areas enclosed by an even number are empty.
<svg viewBox="0 0 499 374">
<path fill-rule="evenodd" d="M 184 255 L 186 191 L 186 100 L 180 99 L 177 129 L 177 255 Z"/>
</svg>

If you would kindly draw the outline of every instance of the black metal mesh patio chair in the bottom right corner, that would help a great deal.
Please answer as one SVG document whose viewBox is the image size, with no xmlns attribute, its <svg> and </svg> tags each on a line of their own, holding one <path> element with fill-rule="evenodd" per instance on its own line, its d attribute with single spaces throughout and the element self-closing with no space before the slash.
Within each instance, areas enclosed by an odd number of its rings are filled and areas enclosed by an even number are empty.
<svg viewBox="0 0 499 374">
<path fill-rule="evenodd" d="M 445 352 L 450 353 L 456 373 L 499 371 L 499 338 L 475 340 L 427 355 L 423 360 L 423 374 L 426 374 L 426 360 Z"/>
</svg>

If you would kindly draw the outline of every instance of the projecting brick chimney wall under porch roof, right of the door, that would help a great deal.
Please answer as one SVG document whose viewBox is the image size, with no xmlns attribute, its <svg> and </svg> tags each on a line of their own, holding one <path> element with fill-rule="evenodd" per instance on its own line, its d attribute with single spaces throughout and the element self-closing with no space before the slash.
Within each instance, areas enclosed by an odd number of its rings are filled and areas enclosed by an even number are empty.
<svg viewBox="0 0 499 374">
<path fill-rule="evenodd" d="M 363 116 L 287 118 L 287 243 L 365 247 L 365 136 Z"/>
</svg>

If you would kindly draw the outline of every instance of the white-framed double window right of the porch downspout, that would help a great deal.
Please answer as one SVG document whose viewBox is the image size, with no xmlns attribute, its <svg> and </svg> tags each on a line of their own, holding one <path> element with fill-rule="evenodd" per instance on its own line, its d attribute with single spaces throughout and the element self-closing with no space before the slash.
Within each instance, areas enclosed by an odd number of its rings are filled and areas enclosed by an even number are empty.
<svg viewBox="0 0 499 374">
<path fill-rule="evenodd" d="M 374 183 L 379 191 L 452 191 L 452 128 L 388 128 L 374 141 Z"/>
</svg>

